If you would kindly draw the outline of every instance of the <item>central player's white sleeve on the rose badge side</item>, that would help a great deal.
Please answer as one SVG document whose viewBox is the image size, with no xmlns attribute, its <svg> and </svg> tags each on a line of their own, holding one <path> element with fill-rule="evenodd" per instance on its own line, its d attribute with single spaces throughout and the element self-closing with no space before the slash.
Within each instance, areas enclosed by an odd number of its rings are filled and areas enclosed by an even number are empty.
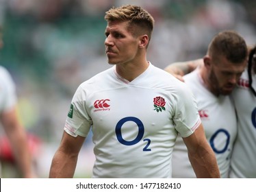
<svg viewBox="0 0 256 192">
<path fill-rule="evenodd" d="M 182 137 L 190 136 L 199 127 L 201 119 L 192 91 L 186 84 L 179 87 L 179 97 L 176 97 L 177 105 L 173 121 L 175 129 Z"/>
</svg>

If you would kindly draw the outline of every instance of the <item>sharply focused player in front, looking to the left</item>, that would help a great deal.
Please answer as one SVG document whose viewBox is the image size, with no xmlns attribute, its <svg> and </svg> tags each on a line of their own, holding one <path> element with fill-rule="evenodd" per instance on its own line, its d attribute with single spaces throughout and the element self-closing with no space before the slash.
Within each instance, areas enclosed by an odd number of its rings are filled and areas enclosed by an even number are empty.
<svg viewBox="0 0 256 192">
<path fill-rule="evenodd" d="M 114 67 L 82 83 L 72 99 L 50 178 L 72 178 L 90 128 L 93 178 L 170 178 L 177 134 L 199 178 L 219 178 L 188 87 L 146 60 L 153 17 L 136 5 L 105 14 L 105 51 Z"/>
</svg>

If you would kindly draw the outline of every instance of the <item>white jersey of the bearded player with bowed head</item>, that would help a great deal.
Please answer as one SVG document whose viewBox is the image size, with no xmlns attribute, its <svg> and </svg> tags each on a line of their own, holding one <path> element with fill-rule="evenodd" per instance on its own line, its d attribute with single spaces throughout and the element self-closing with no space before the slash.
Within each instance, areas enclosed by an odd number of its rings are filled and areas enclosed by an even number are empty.
<svg viewBox="0 0 256 192">
<path fill-rule="evenodd" d="M 199 115 L 205 128 L 205 136 L 216 155 L 220 177 L 227 178 L 230 156 L 237 134 L 235 108 L 229 96 L 216 97 L 205 86 L 199 70 L 184 76 L 185 83 L 191 88 L 199 108 Z M 172 155 L 172 178 L 196 178 L 188 159 L 188 152 L 181 136 Z"/>
</svg>

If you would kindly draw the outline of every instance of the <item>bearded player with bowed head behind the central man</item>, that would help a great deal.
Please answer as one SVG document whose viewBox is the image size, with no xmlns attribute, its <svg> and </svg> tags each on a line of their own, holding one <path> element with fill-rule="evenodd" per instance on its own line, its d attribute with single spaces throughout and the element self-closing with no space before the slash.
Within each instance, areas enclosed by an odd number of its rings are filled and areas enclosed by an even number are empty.
<svg viewBox="0 0 256 192">
<path fill-rule="evenodd" d="M 196 97 L 205 135 L 215 152 L 221 178 L 229 175 L 230 156 L 237 134 L 235 108 L 228 95 L 235 88 L 246 61 L 244 39 L 233 31 L 220 32 L 209 44 L 201 67 L 183 76 Z M 180 136 L 173 150 L 172 177 L 196 177 Z"/>
</svg>

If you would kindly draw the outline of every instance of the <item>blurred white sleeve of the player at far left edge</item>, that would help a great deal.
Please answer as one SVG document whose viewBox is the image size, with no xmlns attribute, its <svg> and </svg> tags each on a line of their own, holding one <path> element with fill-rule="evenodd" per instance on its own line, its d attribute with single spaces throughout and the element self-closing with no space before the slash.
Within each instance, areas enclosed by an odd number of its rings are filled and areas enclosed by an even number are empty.
<svg viewBox="0 0 256 192">
<path fill-rule="evenodd" d="M 16 104 L 15 85 L 10 73 L 0 66 L 0 113 Z"/>
</svg>

